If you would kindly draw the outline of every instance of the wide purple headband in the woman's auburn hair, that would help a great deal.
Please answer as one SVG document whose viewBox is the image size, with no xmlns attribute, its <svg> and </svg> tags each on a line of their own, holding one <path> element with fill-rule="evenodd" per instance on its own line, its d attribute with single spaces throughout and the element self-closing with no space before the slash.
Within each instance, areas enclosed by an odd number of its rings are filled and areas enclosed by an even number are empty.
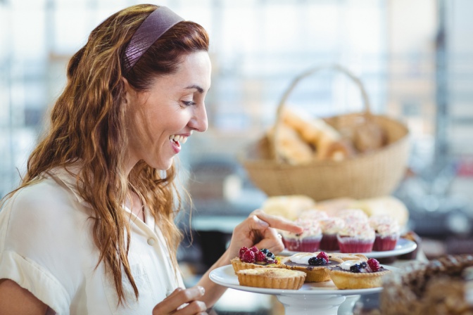
<svg viewBox="0 0 473 315">
<path fill-rule="evenodd" d="M 139 58 L 158 40 L 167 30 L 183 21 L 176 13 L 165 6 L 160 6 L 139 25 L 125 49 L 123 67 L 125 73 L 129 72 Z"/>
</svg>

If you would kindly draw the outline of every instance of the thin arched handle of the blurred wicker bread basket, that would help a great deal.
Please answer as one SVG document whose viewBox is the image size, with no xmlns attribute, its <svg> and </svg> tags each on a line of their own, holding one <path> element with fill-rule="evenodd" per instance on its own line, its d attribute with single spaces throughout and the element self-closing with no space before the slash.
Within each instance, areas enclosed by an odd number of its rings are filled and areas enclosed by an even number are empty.
<svg viewBox="0 0 473 315">
<path fill-rule="evenodd" d="M 277 154 L 275 139 L 277 137 L 277 133 L 279 132 L 278 126 L 281 121 L 281 113 L 286 104 L 286 100 L 287 98 L 289 98 L 289 95 L 291 94 L 291 92 L 296 88 L 297 84 L 302 79 L 305 79 L 305 77 L 309 77 L 310 75 L 313 75 L 314 73 L 319 72 L 320 70 L 336 70 L 336 71 L 342 72 L 343 74 L 348 76 L 350 79 L 352 79 L 353 82 L 356 84 L 356 86 L 358 86 L 358 88 L 361 91 L 362 101 L 365 108 L 364 115 L 366 117 L 369 117 L 371 115 L 370 99 L 368 98 L 368 94 L 366 93 L 365 86 L 363 86 L 361 80 L 355 75 L 353 75 L 353 73 L 351 73 L 348 69 L 342 67 L 341 65 L 334 64 L 334 65 L 322 65 L 322 66 L 318 66 L 318 67 L 306 70 L 305 72 L 302 72 L 300 75 L 298 75 L 297 77 L 293 79 L 289 87 L 286 89 L 286 91 L 282 95 L 281 101 L 279 101 L 279 105 L 277 105 L 275 131 L 273 132 L 272 139 L 269 139 L 270 140 L 269 142 L 270 142 L 270 146 L 272 146 L 272 155 L 275 158 L 275 160 L 277 160 L 278 162 L 282 162 L 282 160 Z"/>
</svg>

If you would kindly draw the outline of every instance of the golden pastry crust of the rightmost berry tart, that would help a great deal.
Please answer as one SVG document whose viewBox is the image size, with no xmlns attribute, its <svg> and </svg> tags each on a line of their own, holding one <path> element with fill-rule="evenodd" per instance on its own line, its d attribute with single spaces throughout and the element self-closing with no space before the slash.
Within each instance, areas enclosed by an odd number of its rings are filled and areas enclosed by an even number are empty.
<svg viewBox="0 0 473 315">
<path fill-rule="evenodd" d="M 354 273 L 337 269 L 329 269 L 329 276 L 340 290 L 346 289 L 369 289 L 378 288 L 383 285 L 383 276 L 391 273 L 389 270 L 377 272 Z"/>
</svg>

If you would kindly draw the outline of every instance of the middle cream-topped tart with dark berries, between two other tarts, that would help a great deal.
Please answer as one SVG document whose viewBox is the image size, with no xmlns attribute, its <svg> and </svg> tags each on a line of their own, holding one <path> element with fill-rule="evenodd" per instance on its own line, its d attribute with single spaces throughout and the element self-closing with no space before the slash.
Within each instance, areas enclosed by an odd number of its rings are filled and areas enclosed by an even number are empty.
<svg viewBox="0 0 473 315">
<path fill-rule="evenodd" d="M 329 281 L 330 276 L 327 267 L 338 266 L 342 262 L 343 260 L 339 257 L 326 252 L 298 252 L 281 260 L 284 268 L 305 272 L 307 274 L 305 282 Z"/>
</svg>

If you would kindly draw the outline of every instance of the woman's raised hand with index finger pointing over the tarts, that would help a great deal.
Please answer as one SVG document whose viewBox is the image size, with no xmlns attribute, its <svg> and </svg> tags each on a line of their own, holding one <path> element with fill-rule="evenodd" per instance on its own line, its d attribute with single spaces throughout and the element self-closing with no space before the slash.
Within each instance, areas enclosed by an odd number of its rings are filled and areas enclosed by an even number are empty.
<svg viewBox="0 0 473 315">
<path fill-rule="evenodd" d="M 267 248 L 270 252 L 278 254 L 284 250 L 284 244 L 277 229 L 294 233 L 302 233 L 303 231 L 301 226 L 282 217 L 267 214 L 262 210 L 251 212 L 248 218 L 233 230 L 228 248 L 229 259 L 238 257 L 239 250 L 243 246 L 247 248 L 256 246 L 258 249 Z"/>
</svg>

